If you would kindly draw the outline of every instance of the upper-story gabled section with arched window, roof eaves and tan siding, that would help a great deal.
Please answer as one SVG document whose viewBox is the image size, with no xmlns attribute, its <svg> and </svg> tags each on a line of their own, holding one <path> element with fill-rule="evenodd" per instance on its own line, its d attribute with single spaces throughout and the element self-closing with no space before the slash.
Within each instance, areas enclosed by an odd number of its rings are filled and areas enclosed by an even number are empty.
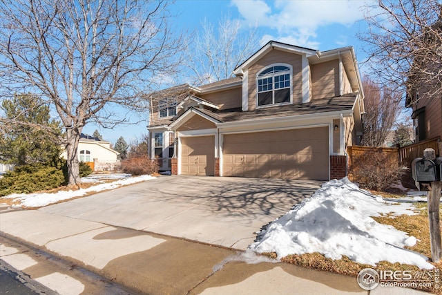
<svg viewBox="0 0 442 295">
<path fill-rule="evenodd" d="M 242 111 L 363 93 L 352 47 L 320 52 L 269 41 L 233 73 L 242 77 Z"/>
</svg>

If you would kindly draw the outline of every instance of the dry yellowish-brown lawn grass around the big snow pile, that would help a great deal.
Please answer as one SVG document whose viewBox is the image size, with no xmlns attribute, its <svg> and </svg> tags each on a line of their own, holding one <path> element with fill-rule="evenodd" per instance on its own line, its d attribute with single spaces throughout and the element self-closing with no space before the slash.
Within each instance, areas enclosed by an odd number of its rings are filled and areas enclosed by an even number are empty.
<svg viewBox="0 0 442 295">
<path fill-rule="evenodd" d="M 376 192 L 374 194 L 381 195 L 385 198 L 401 198 L 401 196 L 394 195 L 392 193 L 382 193 Z M 374 220 L 378 223 L 382 223 L 385 225 L 392 225 L 396 229 L 400 231 L 405 231 L 409 236 L 414 236 L 417 239 L 416 245 L 413 247 L 406 247 L 412 251 L 416 251 L 419 254 L 423 254 L 427 257 L 431 257 L 431 249 L 430 249 L 430 228 L 428 225 L 428 213 L 426 210 L 426 203 L 416 203 L 416 212 L 417 215 L 414 216 L 381 216 L 381 217 L 373 217 Z M 276 258 L 276 254 L 267 254 L 273 258 Z M 343 256 L 339 260 L 332 260 L 323 256 L 320 253 L 311 253 L 311 254 L 302 254 L 302 255 L 289 255 L 281 259 L 282 262 L 291 263 L 294 265 L 320 269 L 327 272 L 334 272 L 336 274 L 345 274 L 347 276 L 358 276 L 358 273 L 366 268 L 371 267 L 378 271 L 380 270 L 410 270 L 412 274 L 422 274 L 423 270 L 419 269 L 414 265 L 402 265 L 399 263 L 389 263 L 387 261 L 381 261 L 376 266 L 372 265 L 364 265 L 361 263 L 355 263 L 350 260 L 347 256 Z M 442 263 L 432 263 L 434 267 L 439 269 L 442 273 Z M 432 270 L 434 272 L 434 269 Z M 428 272 L 428 271 L 427 271 Z M 431 272 L 431 271 L 430 271 Z M 355 278 L 356 280 L 356 278 Z M 433 287 L 418 288 L 425 292 L 432 292 L 434 294 L 442 294 L 442 289 L 437 289 Z"/>
</svg>

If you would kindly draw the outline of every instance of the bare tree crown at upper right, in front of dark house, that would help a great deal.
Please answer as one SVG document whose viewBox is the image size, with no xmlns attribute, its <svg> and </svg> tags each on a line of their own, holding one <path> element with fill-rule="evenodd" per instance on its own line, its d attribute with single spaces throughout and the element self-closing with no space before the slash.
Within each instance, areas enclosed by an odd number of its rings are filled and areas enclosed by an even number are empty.
<svg viewBox="0 0 442 295">
<path fill-rule="evenodd" d="M 379 0 L 367 10 L 367 64 L 389 87 L 419 97 L 442 93 L 442 6 L 438 0 Z M 410 94 L 410 93 L 409 93 Z"/>
</svg>

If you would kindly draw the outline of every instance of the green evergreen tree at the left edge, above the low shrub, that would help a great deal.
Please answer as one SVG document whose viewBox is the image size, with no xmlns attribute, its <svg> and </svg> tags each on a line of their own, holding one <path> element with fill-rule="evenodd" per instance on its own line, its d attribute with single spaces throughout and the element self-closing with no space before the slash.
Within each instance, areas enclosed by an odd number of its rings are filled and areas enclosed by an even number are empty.
<svg viewBox="0 0 442 295">
<path fill-rule="evenodd" d="M 2 124 L 0 160 L 10 164 L 52 164 L 61 153 L 60 123 L 51 120 L 50 109 L 36 95 L 15 95 L 4 100 L 1 111 L 10 124 Z"/>
</svg>

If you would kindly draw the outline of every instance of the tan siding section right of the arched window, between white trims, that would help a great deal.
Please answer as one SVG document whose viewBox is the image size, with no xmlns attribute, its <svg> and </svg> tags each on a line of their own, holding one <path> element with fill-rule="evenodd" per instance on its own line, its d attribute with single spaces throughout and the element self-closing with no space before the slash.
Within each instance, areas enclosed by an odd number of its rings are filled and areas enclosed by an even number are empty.
<svg viewBox="0 0 442 295">
<path fill-rule="evenodd" d="M 339 60 L 311 65 L 311 99 L 339 95 Z"/>
</svg>

